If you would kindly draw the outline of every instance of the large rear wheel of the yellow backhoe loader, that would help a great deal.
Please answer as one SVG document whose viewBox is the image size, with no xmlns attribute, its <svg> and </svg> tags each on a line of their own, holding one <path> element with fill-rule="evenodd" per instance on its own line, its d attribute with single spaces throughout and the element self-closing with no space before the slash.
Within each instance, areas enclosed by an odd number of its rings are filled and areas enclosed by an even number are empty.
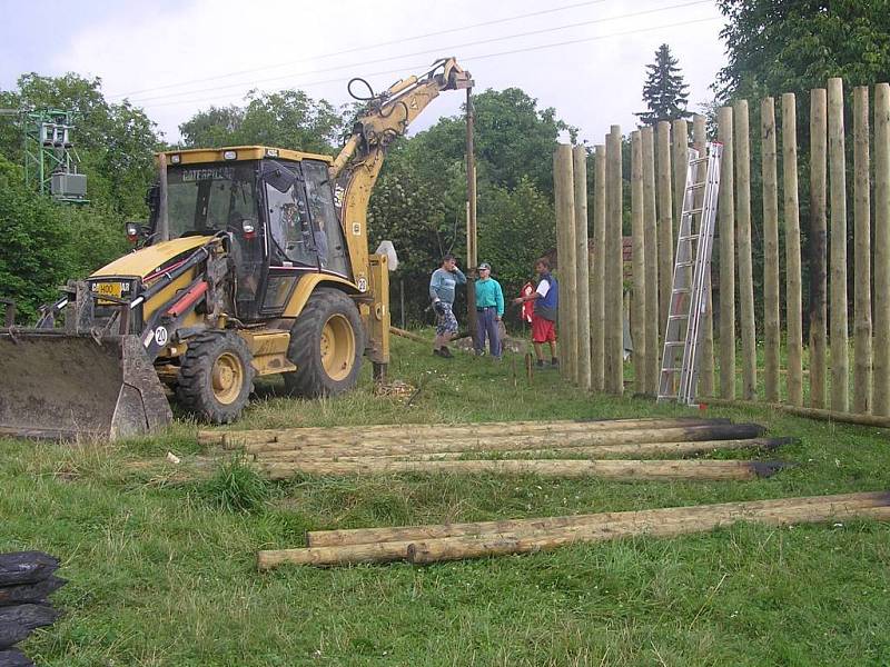
<svg viewBox="0 0 890 667">
<path fill-rule="evenodd" d="M 353 300 L 337 289 L 319 288 L 290 329 L 287 356 L 297 367 L 285 374 L 296 396 L 334 396 L 355 387 L 365 334 Z"/>
</svg>

